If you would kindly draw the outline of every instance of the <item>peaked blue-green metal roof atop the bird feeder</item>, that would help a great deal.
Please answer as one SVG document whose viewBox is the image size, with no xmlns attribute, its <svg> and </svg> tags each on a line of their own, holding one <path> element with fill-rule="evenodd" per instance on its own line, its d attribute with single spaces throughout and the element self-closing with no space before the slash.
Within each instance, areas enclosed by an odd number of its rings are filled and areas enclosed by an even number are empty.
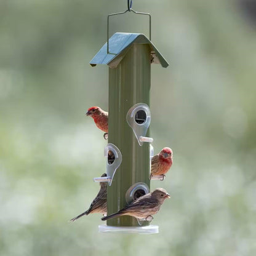
<svg viewBox="0 0 256 256">
<path fill-rule="evenodd" d="M 129 50 L 129 46 L 133 43 L 137 44 L 148 44 L 151 49 L 152 61 L 151 63 L 161 64 L 162 67 L 167 68 L 169 63 L 160 54 L 154 44 L 146 38 L 144 34 L 137 33 L 115 33 L 108 41 L 109 53 L 107 54 L 107 46 L 105 43 L 102 49 L 92 58 L 90 65 L 96 66 L 97 64 L 106 64 L 111 68 L 116 67 L 122 58 Z"/>
</svg>

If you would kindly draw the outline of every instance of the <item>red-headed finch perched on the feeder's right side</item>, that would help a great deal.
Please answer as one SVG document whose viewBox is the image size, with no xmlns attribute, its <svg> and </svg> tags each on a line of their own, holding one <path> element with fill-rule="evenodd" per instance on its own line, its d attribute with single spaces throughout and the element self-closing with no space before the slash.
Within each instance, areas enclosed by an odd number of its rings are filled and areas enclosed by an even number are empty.
<svg viewBox="0 0 256 256">
<path fill-rule="evenodd" d="M 163 148 L 159 154 L 156 154 L 151 159 L 151 176 L 162 175 L 164 179 L 166 172 L 172 166 L 172 150 Z"/>
</svg>

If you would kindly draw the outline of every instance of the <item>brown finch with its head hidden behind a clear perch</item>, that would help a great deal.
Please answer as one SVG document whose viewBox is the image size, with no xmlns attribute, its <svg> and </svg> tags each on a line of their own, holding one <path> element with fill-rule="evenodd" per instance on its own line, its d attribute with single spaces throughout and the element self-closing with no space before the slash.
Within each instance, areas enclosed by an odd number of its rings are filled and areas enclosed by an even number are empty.
<svg viewBox="0 0 256 256">
<path fill-rule="evenodd" d="M 106 177 L 106 174 L 102 174 L 101 177 Z M 104 214 L 106 215 L 107 208 L 106 208 L 106 188 L 107 182 L 100 182 L 100 191 L 94 201 L 90 204 L 90 207 L 86 212 L 74 217 L 70 220 L 70 222 L 75 222 L 78 218 L 88 215 L 88 214 Z"/>
</svg>

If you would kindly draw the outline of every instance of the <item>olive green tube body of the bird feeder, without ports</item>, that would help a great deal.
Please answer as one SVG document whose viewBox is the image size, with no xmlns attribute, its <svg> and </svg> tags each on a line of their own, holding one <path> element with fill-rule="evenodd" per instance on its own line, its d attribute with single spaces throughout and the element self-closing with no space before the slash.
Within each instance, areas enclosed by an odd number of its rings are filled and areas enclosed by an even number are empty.
<svg viewBox="0 0 256 256">
<path fill-rule="evenodd" d="M 131 44 L 116 68 L 109 69 L 108 143 L 122 153 L 122 162 L 108 186 L 108 215 L 127 205 L 130 186 L 143 182 L 150 188 L 150 143 L 138 144 L 126 120 L 127 112 L 137 103 L 150 105 L 151 54 L 148 44 Z M 149 130 L 147 132 L 149 137 Z M 108 226 L 139 226 L 127 215 L 107 220 Z M 149 225 L 143 222 L 143 225 Z"/>
</svg>

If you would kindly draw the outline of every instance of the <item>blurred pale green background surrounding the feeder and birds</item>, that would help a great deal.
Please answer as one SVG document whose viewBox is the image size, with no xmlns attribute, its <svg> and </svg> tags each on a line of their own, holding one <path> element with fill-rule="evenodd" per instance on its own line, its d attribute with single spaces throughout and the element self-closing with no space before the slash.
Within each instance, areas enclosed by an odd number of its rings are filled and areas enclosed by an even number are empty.
<svg viewBox="0 0 256 256">
<path fill-rule="evenodd" d="M 108 109 L 108 67 L 89 66 L 106 16 L 127 1 L 0 1 L 0 255 L 255 255 L 256 7 L 253 0 L 134 0 L 152 15 L 154 151 L 174 150 L 159 234 L 102 234 L 75 223 L 105 171 L 103 132 L 85 111 Z M 110 33 L 148 35 L 147 17 Z"/>
</svg>

